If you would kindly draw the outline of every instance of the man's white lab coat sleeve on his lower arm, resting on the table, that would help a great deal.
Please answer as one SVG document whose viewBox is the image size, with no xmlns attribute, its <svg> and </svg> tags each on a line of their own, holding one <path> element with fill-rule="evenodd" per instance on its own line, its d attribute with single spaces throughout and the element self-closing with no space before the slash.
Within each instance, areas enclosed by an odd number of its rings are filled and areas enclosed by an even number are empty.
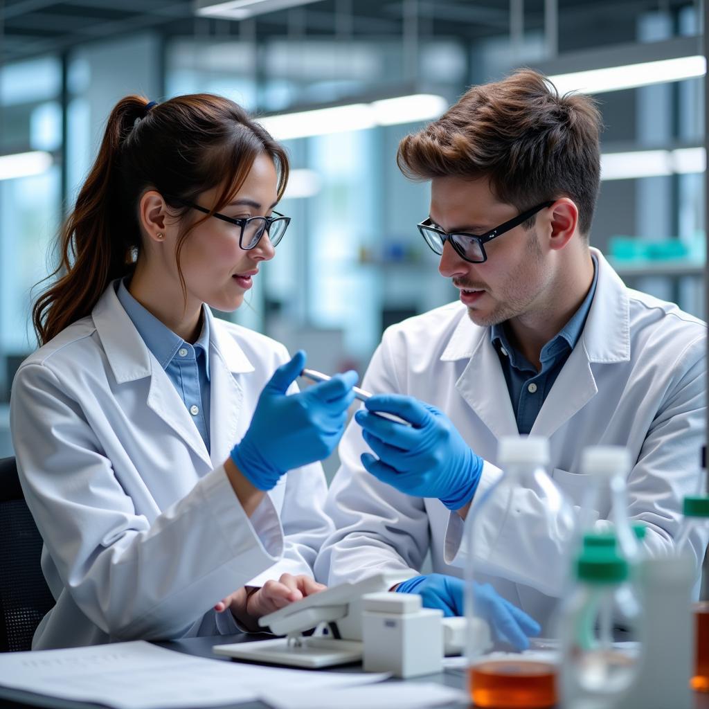
<svg viewBox="0 0 709 709">
<path fill-rule="evenodd" d="M 362 387 L 373 393 L 401 392 L 386 336 Z M 352 420 L 340 442 L 340 469 L 325 506 L 335 532 L 316 562 L 316 578 L 323 584 L 359 581 L 378 572 L 386 572 L 395 584 L 417 576 L 428 551 L 423 499 L 400 493 L 370 475 L 359 459 L 367 451 L 362 429 Z"/>
</svg>

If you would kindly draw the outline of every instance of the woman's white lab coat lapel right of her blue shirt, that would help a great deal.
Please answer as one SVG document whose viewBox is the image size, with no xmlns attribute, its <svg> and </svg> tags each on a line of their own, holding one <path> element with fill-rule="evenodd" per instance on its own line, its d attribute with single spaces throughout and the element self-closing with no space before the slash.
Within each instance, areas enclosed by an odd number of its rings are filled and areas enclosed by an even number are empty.
<svg viewBox="0 0 709 709">
<path fill-rule="evenodd" d="M 210 315 L 211 318 L 211 315 Z M 209 374 L 211 383 L 210 453 L 212 467 L 222 464 L 234 444 L 244 391 L 235 374 L 253 372 L 249 359 L 233 337 L 222 330 L 222 323 L 211 318 Z"/>
</svg>

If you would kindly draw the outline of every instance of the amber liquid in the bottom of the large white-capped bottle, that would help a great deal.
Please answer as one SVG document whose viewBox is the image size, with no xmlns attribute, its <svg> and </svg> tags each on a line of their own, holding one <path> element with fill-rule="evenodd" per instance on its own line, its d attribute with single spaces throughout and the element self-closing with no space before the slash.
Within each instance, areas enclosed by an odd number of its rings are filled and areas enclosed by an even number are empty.
<svg viewBox="0 0 709 709">
<path fill-rule="evenodd" d="M 547 709 L 557 703 L 557 671 L 546 662 L 484 661 L 469 669 L 476 707 Z"/>
</svg>

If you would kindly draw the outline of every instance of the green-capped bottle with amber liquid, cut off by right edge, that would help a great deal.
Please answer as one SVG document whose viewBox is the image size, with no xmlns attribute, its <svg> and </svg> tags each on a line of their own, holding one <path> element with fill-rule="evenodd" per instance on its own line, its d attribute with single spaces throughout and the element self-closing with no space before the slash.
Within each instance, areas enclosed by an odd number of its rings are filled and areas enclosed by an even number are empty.
<svg viewBox="0 0 709 709">
<path fill-rule="evenodd" d="M 702 467 L 705 468 L 706 453 L 702 449 Z M 702 584 L 702 559 L 696 557 L 699 547 L 706 553 L 709 539 L 709 494 L 684 498 L 684 519 L 677 535 L 676 548 L 679 555 L 691 558 L 696 569 L 693 588 L 692 610 L 695 619 L 696 661 L 691 686 L 698 692 L 709 692 L 709 574 L 704 574 Z"/>
</svg>

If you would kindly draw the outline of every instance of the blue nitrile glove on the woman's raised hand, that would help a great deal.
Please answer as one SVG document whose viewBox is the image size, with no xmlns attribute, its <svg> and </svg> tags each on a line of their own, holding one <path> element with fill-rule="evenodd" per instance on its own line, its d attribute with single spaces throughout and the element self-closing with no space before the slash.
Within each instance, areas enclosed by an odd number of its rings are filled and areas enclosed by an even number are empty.
<svg viewBox="0 0 709 709">
<path fill-rule="evenodd" d="M 274 488 L 289 470 L 327 458 L 345 430 L 357 372 L 335 374 L 287 395 L 305 364 L 305 352 L 299 350 L 276 370 L 259 396 L 249 429 L 231 451 L 236 467 L 259 490 Z"/>
</svg>

